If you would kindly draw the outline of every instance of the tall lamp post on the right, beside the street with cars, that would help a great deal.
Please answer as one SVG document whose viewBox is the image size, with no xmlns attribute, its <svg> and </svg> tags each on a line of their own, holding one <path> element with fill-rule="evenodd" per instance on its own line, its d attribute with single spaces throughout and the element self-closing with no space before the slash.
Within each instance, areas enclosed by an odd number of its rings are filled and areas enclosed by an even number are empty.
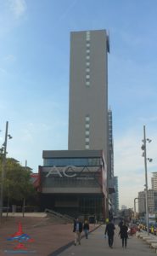
<svg viewBox="0 0 157 256">
<path fill-rule="evenodd" d="M 144 168 L 145 168 L 145 200 L 146 200 L 146 224 L 147 224 L 147 233 L 149 236 L 149 204 L 148 204 L 148 175 L 147 175 L 147 160 L 152 162 L 152 159 L 147 158 L 147 142 L 151 143 L 149 138 L 146 139 L 146 129 L 145 125 L 143 125 L 143 157 L 144 157 Z"/>
</svg>

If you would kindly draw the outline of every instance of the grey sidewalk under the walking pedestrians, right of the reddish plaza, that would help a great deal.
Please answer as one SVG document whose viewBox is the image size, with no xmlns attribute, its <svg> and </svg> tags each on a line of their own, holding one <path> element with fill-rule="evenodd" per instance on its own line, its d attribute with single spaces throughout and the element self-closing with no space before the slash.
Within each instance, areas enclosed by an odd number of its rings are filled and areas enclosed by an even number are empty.
<svg viewBox="0 0 157 256">
<path fill-rule="evenodd" d="M 121 247 L 121 238 L 118 236 L 119 229 L 115 231 L 115 242 L 113 249 L 109 248 L 108 241 L 104 239 L 104 225 L 93 231 L 88 239 L 81 239 L 81 246 L 68 247 L 62 253 L 49 254 L 49 256 L 104 256 L 104 255 L 127 255 L 127 256 L 153 256 L 154 250 L 149 248 L 142 239 L 129 236 L 127 248 Z"/>
</svg>

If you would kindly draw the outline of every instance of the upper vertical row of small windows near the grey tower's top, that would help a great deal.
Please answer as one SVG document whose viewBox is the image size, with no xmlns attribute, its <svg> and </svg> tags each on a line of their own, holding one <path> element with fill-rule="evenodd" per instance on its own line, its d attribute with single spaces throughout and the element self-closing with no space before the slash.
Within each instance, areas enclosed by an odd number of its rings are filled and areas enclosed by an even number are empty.
<svg viewBox="0 0 157 256">
<path fill-rule="evenodd" d="M 90 86 L 90 31 L 86 32 L 86 86 Z"/>
</svg>

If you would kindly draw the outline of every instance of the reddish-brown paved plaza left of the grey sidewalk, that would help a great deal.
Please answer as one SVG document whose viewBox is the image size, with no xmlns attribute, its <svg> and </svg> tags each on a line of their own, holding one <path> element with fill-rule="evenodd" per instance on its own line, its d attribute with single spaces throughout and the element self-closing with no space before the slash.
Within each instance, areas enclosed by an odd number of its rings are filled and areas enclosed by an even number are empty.
<svg viewBox="0 0 157 256">
<path fill-rule="evenodd" d="M 32 217 L 25 214 L 25 218 L 20 216 L 21 214 L 14 214 L 9 218 L 3 218 L 3 223 L 0 226 L 0 256 L 13 254 L 48 256 L 73 241 L 73 224 L 54 223 L 52 218 L 45 218 L 42 214 L 32 214 Z M 9 236 L 18 231 L 19 223 L 22 224 L 22 231 L 33 239 L 32 242 L 24 241 L 27 248 L 25 253 L 14 251 L 18 241 L 7 240 Z M 91 230 L 95 228 L 97 225 L 92 224 Z"/>
</svg>

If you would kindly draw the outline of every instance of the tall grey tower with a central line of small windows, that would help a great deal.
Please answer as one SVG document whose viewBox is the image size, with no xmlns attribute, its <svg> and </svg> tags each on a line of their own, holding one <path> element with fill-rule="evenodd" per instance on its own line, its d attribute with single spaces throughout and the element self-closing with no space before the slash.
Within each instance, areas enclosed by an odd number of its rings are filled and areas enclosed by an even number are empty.
<svg viewBox="0 0 157 256">
<path fill-rule="evenodd" d="M 105 30 L 70 34 L 69 150 L 103 149 L 108 159 L 108 52 Z"/>
</svg>

